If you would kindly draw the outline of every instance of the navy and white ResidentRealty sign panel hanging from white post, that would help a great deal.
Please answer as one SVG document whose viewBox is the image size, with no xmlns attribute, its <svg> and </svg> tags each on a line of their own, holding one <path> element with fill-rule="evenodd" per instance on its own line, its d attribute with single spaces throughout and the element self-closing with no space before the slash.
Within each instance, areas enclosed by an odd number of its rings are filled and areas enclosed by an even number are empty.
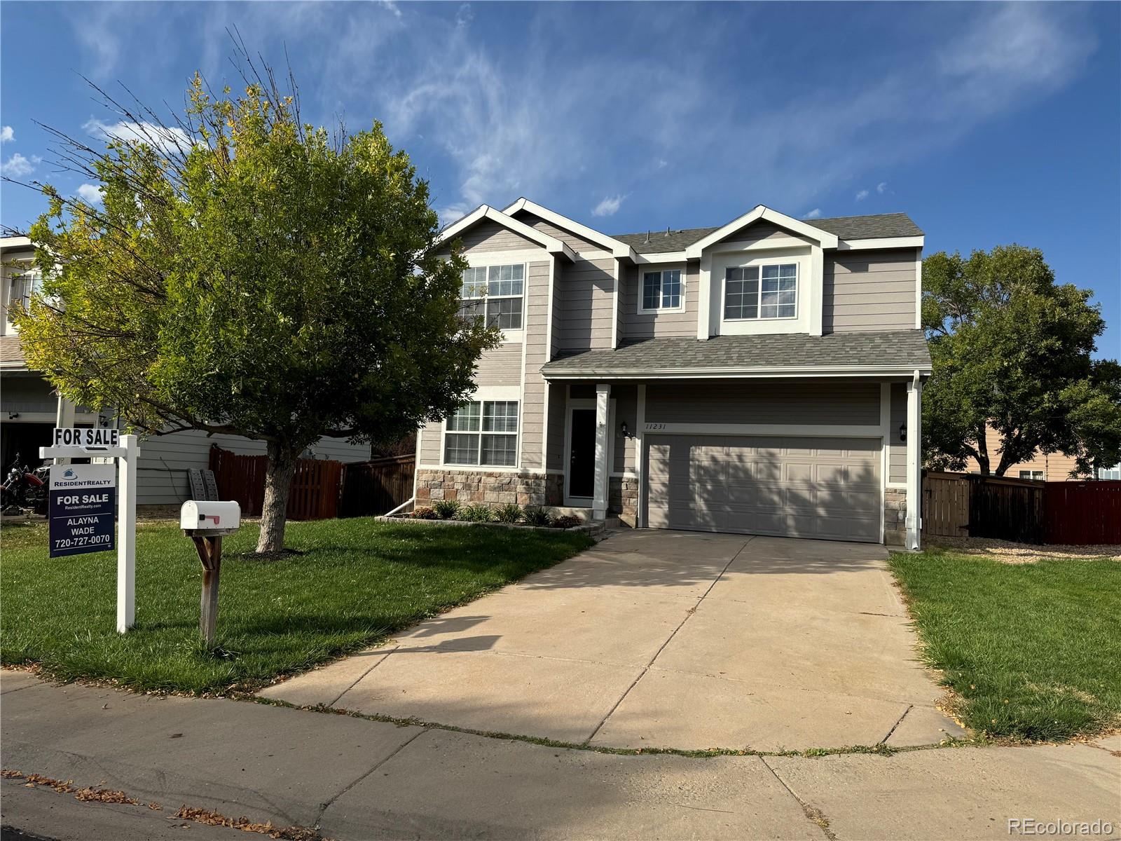
<svg viewBox="0 0 1121 841">
<path fill-rule="evenodd" d="M 50 557 L 114 546 L 115 464 L 50 468 Z"/>
</svg>

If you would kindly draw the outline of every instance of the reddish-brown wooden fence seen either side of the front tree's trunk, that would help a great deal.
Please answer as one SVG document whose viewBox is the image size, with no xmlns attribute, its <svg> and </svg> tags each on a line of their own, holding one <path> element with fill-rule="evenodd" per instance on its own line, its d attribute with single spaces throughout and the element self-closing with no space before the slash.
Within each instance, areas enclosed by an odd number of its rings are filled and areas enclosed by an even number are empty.
<svg viewBox="0 0 1121 841">
<path fill-rule="evenodd" d="M 267 455 L 239 455 L 211 446 L 210 469 L 214 471 L 219 496 L 241 506 L 245 517 L 259 517 L 265 503 Z M 288 517 L 322 520 L 339 516 L 342 462 L 299 459 L 288 493 Z"/>
</svg>

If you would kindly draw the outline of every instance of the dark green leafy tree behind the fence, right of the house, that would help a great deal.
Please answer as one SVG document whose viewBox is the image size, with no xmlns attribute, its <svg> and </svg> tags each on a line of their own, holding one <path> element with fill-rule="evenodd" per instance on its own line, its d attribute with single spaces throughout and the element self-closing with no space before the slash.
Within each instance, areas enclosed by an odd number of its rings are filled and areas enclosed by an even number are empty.
<svg viewBox="0 0 1121 841">
<path fill-rule="evenodd" d="M 930 466 L 1003 475 L 1036 452 L 1077 471 L 1121 459 L 1121 368 L 1095 360 L 1105 329 L 1093 293 L 1056 284 L 1039 249 L 998 246 L 923 261 L 923 325 L 934 371 L 923 392 Z M 985 445 L 985 425 L 1000 452 Z"/>
</svg>

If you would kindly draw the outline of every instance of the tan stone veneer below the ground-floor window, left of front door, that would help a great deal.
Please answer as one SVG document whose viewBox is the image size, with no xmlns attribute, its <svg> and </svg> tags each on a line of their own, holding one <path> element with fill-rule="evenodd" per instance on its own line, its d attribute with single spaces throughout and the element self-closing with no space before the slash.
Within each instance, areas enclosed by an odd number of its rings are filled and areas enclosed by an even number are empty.
<svg viewBox="0 0 1121 841">
<path fill-rule="evenodd" d="M 508 502 L 520 506 L 558 506 L 564 502 L 564 477 L 558 473 L 504 473 L 499 471 L 455 470 L 454 468 L 417 471 L 417 506 L 434 499 L 455 499 L 464 505 L 497 507 Z"/>
</svg>

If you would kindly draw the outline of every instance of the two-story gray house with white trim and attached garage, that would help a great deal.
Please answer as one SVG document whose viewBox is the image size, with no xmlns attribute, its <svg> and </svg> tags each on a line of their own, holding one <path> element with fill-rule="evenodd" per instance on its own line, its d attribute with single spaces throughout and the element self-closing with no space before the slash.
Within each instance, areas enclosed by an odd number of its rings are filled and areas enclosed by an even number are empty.
<svg viewBox="0 0 1121 841">
<path fill-rule="evenodd" d="M 446 228 L 502 329 L 424 426 L 416 503 L 919 542 L 923 231 L 905 214 L 610 237 L 521 198 Z"/>
</svg>

